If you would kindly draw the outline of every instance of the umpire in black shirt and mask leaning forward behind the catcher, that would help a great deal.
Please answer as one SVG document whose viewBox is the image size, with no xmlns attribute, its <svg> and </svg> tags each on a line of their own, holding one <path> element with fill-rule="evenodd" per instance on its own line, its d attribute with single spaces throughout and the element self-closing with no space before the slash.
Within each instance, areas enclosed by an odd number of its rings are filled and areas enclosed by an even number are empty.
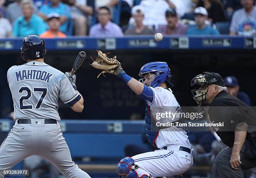
<svg viewBox="0 0 256 178">
<path fill-rule="evenodd" d="M 191 81 L 191 91 L 199 106 L 210 105 L 211 123 L 223 143 L 228 145 L 215 159 L 220 178 L 243 178 L 243 170 L 256 167 L 256 112 L 226 92 L 218 73 L 205 72 Z"/>
</svg>

